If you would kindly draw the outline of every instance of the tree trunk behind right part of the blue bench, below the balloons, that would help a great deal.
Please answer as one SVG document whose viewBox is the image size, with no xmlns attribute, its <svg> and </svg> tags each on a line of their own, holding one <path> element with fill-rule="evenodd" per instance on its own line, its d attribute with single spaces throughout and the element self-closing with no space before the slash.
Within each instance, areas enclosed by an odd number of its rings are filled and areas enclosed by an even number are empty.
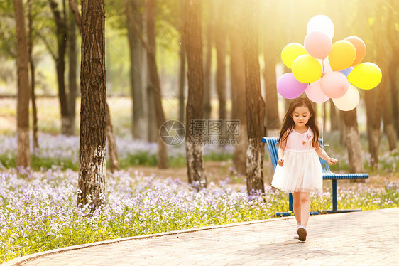
<svg viewBox="0 0 399 266">
<path fill-rule="evenodd" d="M 351 173 L 363 173 L 363 156 L 361 153 L 356 108 L 348 112 L 340 112 L 345 122 L 346 149 L 348 150 L 349 171 Z M 356 179 L 356 181 L 359 180 L 361 179 Z"/>
</svg>

